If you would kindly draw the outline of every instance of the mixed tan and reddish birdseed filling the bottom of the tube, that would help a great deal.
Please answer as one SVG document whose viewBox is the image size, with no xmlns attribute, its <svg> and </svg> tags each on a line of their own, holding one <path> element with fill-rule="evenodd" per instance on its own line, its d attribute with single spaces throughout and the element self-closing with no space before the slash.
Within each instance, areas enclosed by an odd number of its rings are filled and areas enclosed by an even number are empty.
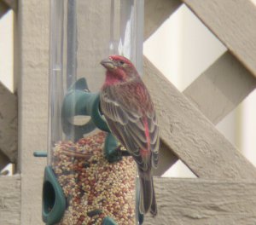
<svg viewBox="0 0 256 225">
<path fill-rule="evenodd" d="M 67 199 L 60 225 L 100 225 L 106 216 L 136 223 L 136 164 L 131 157 L 109 164 L 102 150 L 106 135 L 55 144 L 51 165 Z"/>
</svg>

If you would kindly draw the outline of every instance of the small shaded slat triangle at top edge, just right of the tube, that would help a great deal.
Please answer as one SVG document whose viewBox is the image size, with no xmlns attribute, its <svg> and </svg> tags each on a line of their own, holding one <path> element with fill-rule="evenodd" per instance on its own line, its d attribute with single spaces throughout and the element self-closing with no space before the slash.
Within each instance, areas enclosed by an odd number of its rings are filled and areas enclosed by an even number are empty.
<svg viewBox="0 0 256 225">
<path fill-rule="evenodd" d="M 145 0 L 144 3 L 144 40 L 182 4 L 180 0 Z"/>
</svg>

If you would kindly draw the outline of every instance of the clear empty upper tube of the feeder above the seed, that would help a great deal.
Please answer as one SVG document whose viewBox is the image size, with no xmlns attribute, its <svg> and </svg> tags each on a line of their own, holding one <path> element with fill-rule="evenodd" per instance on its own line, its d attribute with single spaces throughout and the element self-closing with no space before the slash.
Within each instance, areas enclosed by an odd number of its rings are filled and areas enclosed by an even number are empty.
<svg viewBox="0 0 256 225">
<path fill-rule="evenodd" d="M 50 7 L 49 149 L 65 138 L 61 104 L 67 89 L 84 77 L 98 91 L 103 58 L 124 55 L 143 74 L 142 0 L 51 0 Z"/>
</svg>

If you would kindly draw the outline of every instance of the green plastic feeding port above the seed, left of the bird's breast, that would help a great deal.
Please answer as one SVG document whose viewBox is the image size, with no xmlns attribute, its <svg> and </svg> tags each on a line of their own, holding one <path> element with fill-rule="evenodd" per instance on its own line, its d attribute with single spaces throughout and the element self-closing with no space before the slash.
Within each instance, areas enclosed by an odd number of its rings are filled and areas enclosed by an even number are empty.
<svg viewBox="0 0 256 225">
<path fill-rule="evenodd" d="M 67 90 L 61 107 L 61 126 L 67 136 L 73 136 L 77 141 L 84 134 L 90 133 L 96 127 L 109 132 L 108 124 L 100 112 L 99 93 L 90 93 L 85 78 L 79 78 Z M 75 116 L 90 116 L 90 120 L 82 125 L 71 122 Z"/>
</svg>

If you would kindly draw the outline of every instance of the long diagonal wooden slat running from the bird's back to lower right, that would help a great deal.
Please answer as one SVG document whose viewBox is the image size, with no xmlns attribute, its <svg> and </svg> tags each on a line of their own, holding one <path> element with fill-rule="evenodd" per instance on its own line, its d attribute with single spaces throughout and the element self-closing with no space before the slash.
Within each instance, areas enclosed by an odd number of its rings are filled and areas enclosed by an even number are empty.
<svg viewBox="0 0 256 225">
<path fill-rule="evenodd" d="M 147 58 L 144 58 L 143 79 L 158 112 L 162 140 L 196 176 L 216 179 L 256 177 L 253 164 Z"/>
</svg>

